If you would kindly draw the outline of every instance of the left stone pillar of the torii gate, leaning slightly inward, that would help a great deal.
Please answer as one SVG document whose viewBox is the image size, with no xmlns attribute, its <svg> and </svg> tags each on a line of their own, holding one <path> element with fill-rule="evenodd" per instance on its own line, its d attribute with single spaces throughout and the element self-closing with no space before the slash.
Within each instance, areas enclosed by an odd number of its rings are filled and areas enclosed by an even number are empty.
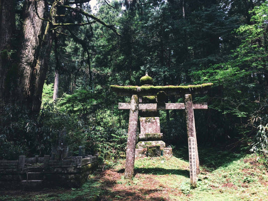
<svg viewBox="0 0 268 201">
<path fill-rule="evenodd" d="M 131 108 L 129 112 L 129 124 L 128 124 L 128 141 L 126 151 L 126 167 L 125 178 L 132 178 L 134 176 L 134 162 L 135 162 L 135 147 L 136 147 L 136 132 L 138 126 L 138 109 L 139 109 L 139 96 L 132 95 Z"/>
</svg>

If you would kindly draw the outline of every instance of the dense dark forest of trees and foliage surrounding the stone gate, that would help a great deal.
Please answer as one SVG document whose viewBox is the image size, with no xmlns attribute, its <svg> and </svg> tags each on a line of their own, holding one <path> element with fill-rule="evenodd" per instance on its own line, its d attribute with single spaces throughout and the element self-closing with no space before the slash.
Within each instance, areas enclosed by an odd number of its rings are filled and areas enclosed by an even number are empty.
<svg viewBox="0 0 268 201">
<path fill-rule="evenodd" d="M 89 2 L 1 1 L 0 159 L 50 153 L 62 137 L 74 155 L 124 155 L 117 103 L 130 99 L 110 85 L 140 85 L 145 72 L 155 86 L 213 83 L 194 96 L 209 107 L 195 114 L 201 145 L 266 153 L 266 1 Z M 167 144 L 187 142 L 183 112 L 160 122 Z"/>
</svg>

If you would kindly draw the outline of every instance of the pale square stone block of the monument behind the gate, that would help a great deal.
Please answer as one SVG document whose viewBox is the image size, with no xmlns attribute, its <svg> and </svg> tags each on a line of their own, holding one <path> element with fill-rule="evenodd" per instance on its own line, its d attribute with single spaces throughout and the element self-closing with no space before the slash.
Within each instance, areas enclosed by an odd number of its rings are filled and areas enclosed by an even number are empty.
<svg viewBox="0 0 268 201">
<path fill-rule="evenodd" d="M 140 133 L 161 133 L 159 117 L 141 117 Z"/>
</svg>

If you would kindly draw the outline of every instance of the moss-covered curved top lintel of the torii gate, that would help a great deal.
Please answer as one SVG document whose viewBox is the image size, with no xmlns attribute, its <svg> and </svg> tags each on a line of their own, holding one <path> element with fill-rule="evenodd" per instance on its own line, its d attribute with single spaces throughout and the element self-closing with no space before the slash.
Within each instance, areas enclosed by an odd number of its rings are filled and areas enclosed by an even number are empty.
<svg viewBox="0 0 268 201">
<path fill-rule="evenodd" d="M 195 93 L 207 93 L 207 90 L 213 85 L 213 83 L 204 83 L 197 85 L 187 86 L 153 86 L 153 85 L 142 85 L 142 86 L 119 86 L 111 85 L 111 89 L 117 93 L 117 95 L 131 96 L 137 94 L 139 96 L 144 95 L 157 95 L 159 91 L 164 91 L 167 95 L 178 95 L 184 94 L 195 94 Z"/>
</svg>

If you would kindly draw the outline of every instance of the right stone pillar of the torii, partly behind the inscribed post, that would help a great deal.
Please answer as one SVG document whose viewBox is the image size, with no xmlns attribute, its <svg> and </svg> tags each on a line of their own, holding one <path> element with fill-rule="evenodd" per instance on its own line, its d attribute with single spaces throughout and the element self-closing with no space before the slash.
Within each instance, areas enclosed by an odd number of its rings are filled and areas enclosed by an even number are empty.
<svg viewBox="0 0 268 201">
<path fill-rule="evenodd" d="M 185 116 L 186 116 L 186 126 L 188 137 L 193 137 L 195 139 L 195 152 L 196 152 L 196 170 L 197 174 L 200 173 L 199 169 L 199 157 L 197 149 L 197 137 L 196 137 L 196 126 L 195 126 L 195 116 L 192 101 L 192 94 L 185 94 Z"/>
</svg>

